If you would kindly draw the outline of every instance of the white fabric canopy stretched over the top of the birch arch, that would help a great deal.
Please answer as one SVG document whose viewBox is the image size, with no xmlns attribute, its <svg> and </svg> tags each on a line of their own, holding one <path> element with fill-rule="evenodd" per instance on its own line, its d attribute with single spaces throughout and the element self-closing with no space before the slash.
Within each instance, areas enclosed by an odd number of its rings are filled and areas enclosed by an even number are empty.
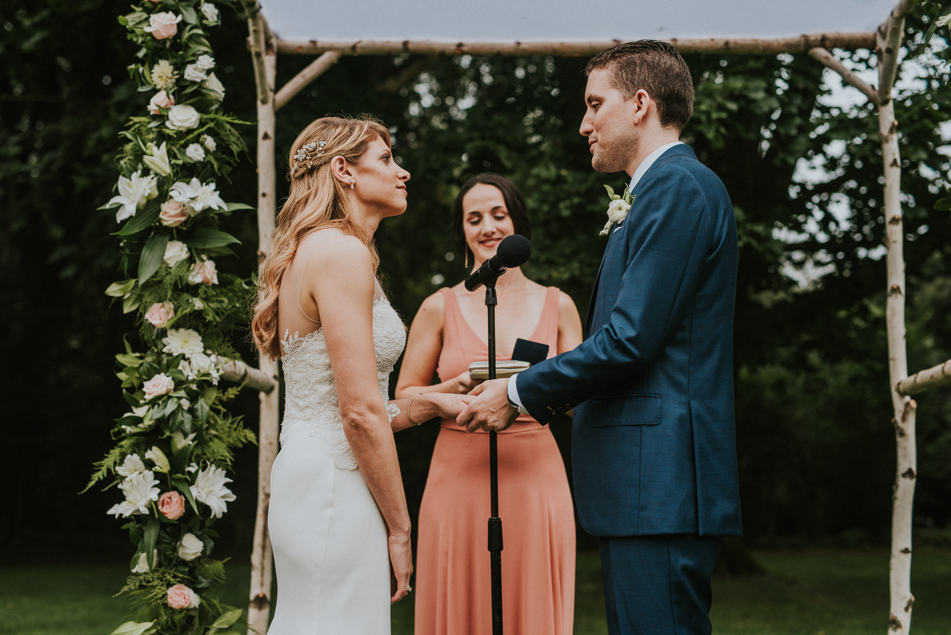
<svg viewBox="0 0 951 635">
<path fill-rule="evenodd" d="M 871 32 L 896 0 L 264 0 L 283 40 L 781 38 Z"/>
</svg>

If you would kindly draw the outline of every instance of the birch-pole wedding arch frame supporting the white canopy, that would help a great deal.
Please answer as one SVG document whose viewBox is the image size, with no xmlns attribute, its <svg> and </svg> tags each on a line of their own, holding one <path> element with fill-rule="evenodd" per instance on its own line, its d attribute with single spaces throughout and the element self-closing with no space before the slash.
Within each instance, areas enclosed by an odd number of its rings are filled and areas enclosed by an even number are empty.
<svg viewBox="0 0 951 635">
<path fill-rule="evenodd" d="M 415 53 L 429 55 L 590 55 L 608 49 L 622 40 L 606 42 L 540 43 L 445 43 L 432 41 L 357 41 L 291 42 L 276 38 L 267 26 L 258 0 L 241 0 L 247 13 L 249 49 L 255 70 L 258 96 L 258 228 L 259 264 L 270 246 L 275 227 L 276 165 L 274 152 L 275 112 L 292 97 L 331 68 L 342 55 L 392 55 Z M 879 110 L 879 132 L 883 152 L 885 245 L 888 248 L 886 328 L 888 334 L 889 384 L 894 407 L 898 466 L 892 508 L 892 549 L 889 566 L 890 615 L 888 633 L 909 632 L 911 607 L 911 529 L 917 461 L 915 412 L 911 395 L 932 387 L 951 384 L 951 360 L 943 365 L 908 376 L 905 351 L 905 279 L 902 253 L 903 227 L 901 205 L 902 164 L 899 153 L 898 122 L 895 121 L 892 91 L 902 47 L 905 17 L 913 0 L 901 0 L 874 33 L 821 33 L 779 39 L 708 38 L 670 40 L 683 53 L 775 55 L 808 52 L 827 68 L 838 72 L 844 83 L 861 90 Z M 867 85 L 846 69 L 829 49 L 870 49 L 878 57 L 879 88 Z M 277 54 L 319 55 L 305 69 L 275 91 Z M 277 379 L 277 364 L 262 359 L 262 375 Z M 278 452 L 278 390 L 261 396 L 260 454 L 258 462 L 258 515 L 255 522 L 251 556 L 251 590 L 248 609 L 248 635 L 263 635 L 270 614 L 272 555 L 267 535 L 267 509 L 270 500 L 271 466 Z"/>
</svg>

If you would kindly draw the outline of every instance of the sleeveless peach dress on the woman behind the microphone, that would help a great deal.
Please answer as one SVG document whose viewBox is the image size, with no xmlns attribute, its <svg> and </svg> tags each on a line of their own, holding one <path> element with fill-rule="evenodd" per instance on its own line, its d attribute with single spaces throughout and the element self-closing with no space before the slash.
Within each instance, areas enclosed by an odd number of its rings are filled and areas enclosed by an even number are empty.
<svg viewBox="0 0 951 635">
<path fill-rule="evenodd" d="M 463 318 L 453 290 L 440 290 L 446 317 L 437 373 L 446 381 L 486 360 L 489 351 Z M 531 339 L 547 344 L 550 357 L 556 354 L 557 288 L 548 288 Z M 489 434 L 443 420 L 419 509 L 416 635 L 492 633 L 489 507 Z M 498 435 L 498 507 L 505 632 L 571 635 L 572 495 L 551 430 L 528 415 Z"/>
</svg>

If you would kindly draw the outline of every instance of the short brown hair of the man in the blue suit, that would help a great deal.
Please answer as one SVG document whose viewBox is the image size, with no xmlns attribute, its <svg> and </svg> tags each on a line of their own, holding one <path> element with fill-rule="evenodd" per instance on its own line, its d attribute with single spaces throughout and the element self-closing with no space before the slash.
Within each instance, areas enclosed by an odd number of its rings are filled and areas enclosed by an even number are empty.
<svg viewBox="0 0 951 635">
<path fill-rule="evenodd" d="M 637 40 L 602 50 L 585 67 L 609 69 L 611 85 L 631 99 L 638 90 L 647 90 L 657 102 L 660 125 L 683 130 L 693 111 L 693 79 L 687 62 L 668 42 Z"/>
</svg>

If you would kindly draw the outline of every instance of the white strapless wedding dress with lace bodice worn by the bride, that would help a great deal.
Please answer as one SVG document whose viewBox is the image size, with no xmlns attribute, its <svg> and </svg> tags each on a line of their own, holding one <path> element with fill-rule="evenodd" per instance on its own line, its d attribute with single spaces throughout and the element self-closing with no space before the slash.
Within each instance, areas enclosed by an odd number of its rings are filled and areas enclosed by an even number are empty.
<svg viewBox="0 0 951 635">
<path fill-rule="evenodd" d="M 374 299 L 379 398 L 406 344 L 385 299 Z M 390 557 L 386 526 L 343 434 L 323 331 L 284 335 L 286 401 L 271 470 L 267 524 L 278 574 L 268 635 L 386 635 Z M 390 418 L 398 412 L 387 407 Z"/>
</svg>

